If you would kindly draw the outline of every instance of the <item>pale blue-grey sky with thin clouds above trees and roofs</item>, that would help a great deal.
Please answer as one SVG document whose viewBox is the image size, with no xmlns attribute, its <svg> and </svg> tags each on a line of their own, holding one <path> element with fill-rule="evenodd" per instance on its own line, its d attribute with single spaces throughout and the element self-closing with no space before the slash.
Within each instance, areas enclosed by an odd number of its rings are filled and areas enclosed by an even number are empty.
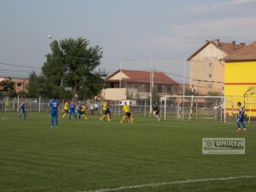
<svg viewBox="0 0 256 192">
<path fill-rule="evenodd" d="M 207 39 L 256 41 L 255 8 L 256 0 L 0 0 L 0 76 L 28 77 L 33 70 L 3 63 L 42 67 L 50 34 L 98 44 L 100 68 L 109 73 L 121 61 L 122 68 L 154 66 L 175 79 L 183 75 L 183 58 Z M 177 59 L 125 61 L 148 57 Z"/>
</svg>

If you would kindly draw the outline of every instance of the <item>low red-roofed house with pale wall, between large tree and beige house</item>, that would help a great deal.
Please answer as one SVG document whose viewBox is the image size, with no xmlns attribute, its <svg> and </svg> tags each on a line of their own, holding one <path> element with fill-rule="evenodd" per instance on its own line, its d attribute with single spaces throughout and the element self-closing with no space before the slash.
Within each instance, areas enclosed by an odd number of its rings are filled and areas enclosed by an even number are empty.
<svg viewBox="0 0 256 192">
<path fill-rule="evenodd" d="M 109 100 L 148 99 L 152 84 L 160 96 L 177 92 L 177 82 L 162 72 L 119 69 L 105 79 L 105 84 L 102 94 Z"/>
</svg>

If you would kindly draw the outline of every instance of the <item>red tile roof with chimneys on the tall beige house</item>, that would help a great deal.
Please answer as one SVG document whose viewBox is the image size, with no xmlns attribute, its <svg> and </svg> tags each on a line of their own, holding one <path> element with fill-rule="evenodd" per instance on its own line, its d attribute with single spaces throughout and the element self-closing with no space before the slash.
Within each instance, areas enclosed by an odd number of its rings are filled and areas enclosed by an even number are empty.
<svg viewBox="0 0 256 192">
<path fill-rule="evenodd" d="M 200 49 L 196 50 L 194 54 L 189 56 L 189 59 L 187 59 L 187 61 L 190 61 L 195 55 L 200 53 L 202 49 L 205 49 L 208 44 L 213 44 L 218 49 L 224 51 L 224 53 L 226 53 L 227 55 L 231 54 L 232 52 L 236 51 L 237 49 L 241 49 L 242 47 L 244 47 L 244 44 L 236 44 L 236 42 L 224 43 L 224 42 L 220 42 L 218 39 L 215 39 L 213 41 L 207 40 L 206 43 L 203 46 L 201 46 Z"/>
</svg>

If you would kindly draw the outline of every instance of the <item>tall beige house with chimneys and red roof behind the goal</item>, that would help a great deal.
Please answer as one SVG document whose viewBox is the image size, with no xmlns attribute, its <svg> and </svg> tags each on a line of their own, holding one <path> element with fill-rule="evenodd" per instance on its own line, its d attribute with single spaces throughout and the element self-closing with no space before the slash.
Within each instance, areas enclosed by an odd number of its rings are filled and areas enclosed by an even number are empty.
<svg viewBox="0 0 256 192">
<path fill-rule="evenodd" d="M 219 39 L 206 43 L 190 55 L 189 84 L 198 95 L 207 96 L 209 92 L 220 95 L 224 83 L 224 61 L 220 61 L 245 44 L 220 42 Z"/>
</svg>

